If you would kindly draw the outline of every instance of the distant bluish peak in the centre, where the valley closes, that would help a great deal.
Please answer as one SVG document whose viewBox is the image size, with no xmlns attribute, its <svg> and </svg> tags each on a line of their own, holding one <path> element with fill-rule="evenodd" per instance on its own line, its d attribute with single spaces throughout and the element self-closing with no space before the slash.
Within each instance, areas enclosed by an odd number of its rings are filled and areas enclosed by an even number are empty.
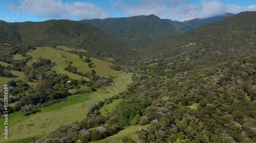
<svg viewBox="0 0 256 143">
<path fill-rule="evenodd" d="M 183 32 L 175 27 L 173 21 L 170 20 L 167 23 L 155 15 L 81 20 L 80 22 L 99 27 L 115 39 L 137 49 Z"/>
</svg>

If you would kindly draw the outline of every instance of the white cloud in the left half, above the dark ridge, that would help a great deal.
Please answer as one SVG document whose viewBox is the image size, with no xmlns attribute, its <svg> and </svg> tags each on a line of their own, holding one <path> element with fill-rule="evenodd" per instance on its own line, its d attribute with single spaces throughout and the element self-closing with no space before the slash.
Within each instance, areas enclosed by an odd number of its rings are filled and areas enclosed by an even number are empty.
<svg viewBox="0 0 256 143">
<path fill-rule="evenodd" d="M 106 18 L 104 13 L 98 6 L 92 3 L 74 2 L 63 3 L 61 0 L 25 0 L 29 2 L 25 13 L 36 14 L 38 17 L 46 18 L 63 18 L 63 19 L 92 19 Z M 20 0 L 20 5 L 23 6 L 24 0 Z M 11 6 L 11 5 L 10 5 Z M 16 9 L 18 9 L 18 7 Z"/>
</svg>

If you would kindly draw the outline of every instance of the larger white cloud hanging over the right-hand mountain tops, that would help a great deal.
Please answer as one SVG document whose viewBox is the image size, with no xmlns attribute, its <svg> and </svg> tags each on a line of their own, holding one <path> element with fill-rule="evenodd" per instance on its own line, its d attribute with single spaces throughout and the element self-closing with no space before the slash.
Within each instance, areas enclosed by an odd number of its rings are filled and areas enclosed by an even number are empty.
<svg viewBox="0 0 256 143">
<path fill-rule="evenodd" d="M 200 4 L 190 5 L 187 5 L 185 1 L 175 3 L 174 0 L 148 0 L 147 2 L 149 1 L 151 3 L 146 3 L 146 0 L 140 0 L 140 5 L 126 6 L 124 10 L 125 14 L 127 16 L 155 14 L 160 18 L 185 21 L 195 18 L 217 16 L 224 13 L 237 14 L 243 11 L 256 11 L 256 5 L 240 7 L 226 5 L 217 0 L 202 1 Z M 166 4 L 170 4 L 170 6 L 168 7 Z"/>
</svg>

